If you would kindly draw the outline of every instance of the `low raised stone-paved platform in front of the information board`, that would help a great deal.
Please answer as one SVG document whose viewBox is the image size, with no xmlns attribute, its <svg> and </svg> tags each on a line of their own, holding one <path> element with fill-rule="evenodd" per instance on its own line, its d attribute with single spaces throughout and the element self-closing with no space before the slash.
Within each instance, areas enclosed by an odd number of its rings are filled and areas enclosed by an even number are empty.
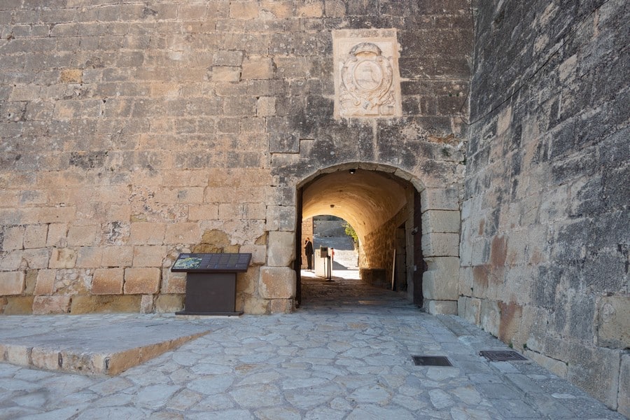
<svg viewBox="0 0 630 420">
<path fill-rule="evenodd" d="M 175 318 L 146 316 L 120 321 L 118 314 L 116 323 L 108 323 L 107 317 L 46 316 L 50 328 L 25 331 L 18 328 L 24 317 L 4 316 L 0 323 L 0 361 L 113 376 L 210 332 L 206 325 Z"/>
</svg>

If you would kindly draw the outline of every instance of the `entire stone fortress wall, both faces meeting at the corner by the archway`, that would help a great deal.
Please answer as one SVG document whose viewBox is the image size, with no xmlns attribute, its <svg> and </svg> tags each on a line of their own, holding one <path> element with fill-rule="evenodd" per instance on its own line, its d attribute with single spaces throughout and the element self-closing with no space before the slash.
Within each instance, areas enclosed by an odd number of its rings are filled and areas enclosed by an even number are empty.
<svg viewBox="0 0 630 420">
<path fill-rule="evenodd" d="M 421 193 L 434 313 L 630 415 L 629 6 L 472 6 L 0 1 L 0 311 L 175 311 L 176 255 L 239 251 L 237 309 L 290 312 L 297 192 L 357 167 Z"/>
</svg>

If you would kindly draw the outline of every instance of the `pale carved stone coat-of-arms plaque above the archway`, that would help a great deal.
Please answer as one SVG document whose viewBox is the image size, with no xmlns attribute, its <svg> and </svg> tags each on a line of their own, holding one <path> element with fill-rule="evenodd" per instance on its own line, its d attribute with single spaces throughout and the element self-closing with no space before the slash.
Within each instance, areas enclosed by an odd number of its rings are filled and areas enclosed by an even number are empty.
<svg viewBox="0 0 630 420">
<path fill-rule="evenodd" d="M 335 118 L 402 116 L 395 29 L 333 31 Z"/>
</svg>

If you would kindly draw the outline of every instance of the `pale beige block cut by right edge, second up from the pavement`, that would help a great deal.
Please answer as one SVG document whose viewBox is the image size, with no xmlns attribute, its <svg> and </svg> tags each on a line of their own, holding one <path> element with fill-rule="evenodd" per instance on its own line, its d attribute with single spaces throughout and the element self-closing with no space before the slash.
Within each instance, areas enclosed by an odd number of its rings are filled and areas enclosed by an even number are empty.
<svg viewBox="0 0 630 420">
<path fill-rule="evenodd" d="M 605 296 L 597 302 L 597 344 L 630 347 L 630 296 Z"/>
</svg>

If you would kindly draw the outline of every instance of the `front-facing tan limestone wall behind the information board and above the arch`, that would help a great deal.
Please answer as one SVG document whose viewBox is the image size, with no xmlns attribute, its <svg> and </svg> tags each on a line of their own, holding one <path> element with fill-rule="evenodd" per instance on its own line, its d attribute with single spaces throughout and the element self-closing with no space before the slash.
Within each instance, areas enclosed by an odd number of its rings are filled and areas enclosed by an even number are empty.
<svg viewBox="0 0 630 420">
<path fill-rule="evenodd" d="M 398 40 L 402 116 L 333 116 L 342 29 Z M 9 1 L 0 32 L 4 314 L 180 309 L 183 251 L 252 253 L 237 309 L 290 311 L 300 181 L 461 189 L 467 1 Z"/>
</svg>

